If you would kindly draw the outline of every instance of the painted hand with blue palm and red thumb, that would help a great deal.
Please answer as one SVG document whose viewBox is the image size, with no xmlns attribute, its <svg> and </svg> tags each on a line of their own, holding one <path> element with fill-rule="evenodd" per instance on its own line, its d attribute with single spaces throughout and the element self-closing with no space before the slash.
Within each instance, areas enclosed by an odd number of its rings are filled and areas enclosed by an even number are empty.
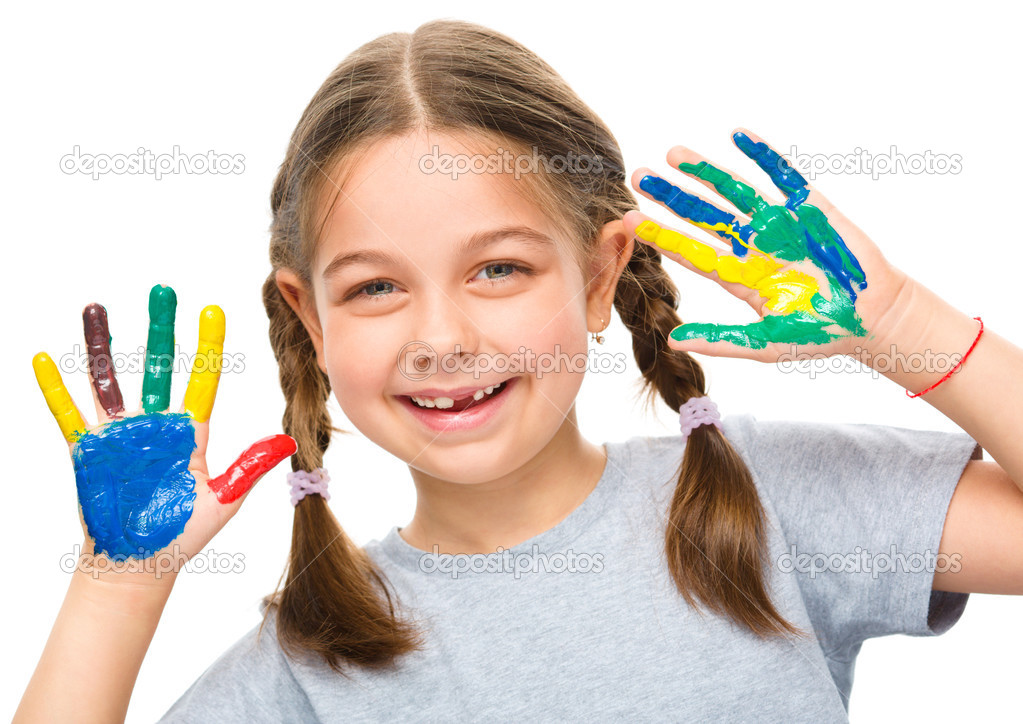
<svg viewBox="0 0 1023 724">
<path fill-rule="evenodd" d="M 199 315 L 191 377 L 181 409 L 171 413 L 176 306 L 173 289 L 152 287 L 142 409 L 134 414 L 124 411 L 106 311 L 100 305 L 89 305 L 83 314 L 96 425 L 86 425 L 53 361 L 45 353 L 33 359 L 36 379 L 74 462 L 84 552 L 105 555 L 117 564 L 108 569 L 150 577 L 160 572 L 168 580 L 237 512 L 259 478 L 296 450 L 286 435 L 264 438 L 222 476 L 210 478 L 206 451 L 220 380 L 224 314 L 211 306 Z M 173 556 L 165 555 L 154 565 L 154 557 L 172 543 Z M 168 558 L 173 558 L 173 569 L 166 568 Z"/>
</svg>

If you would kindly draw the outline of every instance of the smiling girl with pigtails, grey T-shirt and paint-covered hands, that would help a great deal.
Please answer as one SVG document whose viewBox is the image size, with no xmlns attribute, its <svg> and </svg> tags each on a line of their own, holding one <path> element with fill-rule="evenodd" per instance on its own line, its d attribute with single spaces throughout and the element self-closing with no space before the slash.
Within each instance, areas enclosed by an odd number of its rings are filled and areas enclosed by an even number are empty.
<svg viewBox="0 0 1023 724">
<path fill-rule="evenodd" d="M 631 178 L 690 222 L 674 231 L 635 211 L 610 131 L 510 39 L 435 21 L 349 56 L 271 194 L 263 295 L 286 436 L 207 474 L 216 365 L 198 360 L 220 354 L 216 309 L 177 416 L 153 365 L 153 398 L 144 388 L 142 414 L 119 419 L 97 365 L 100 425 L 86 429 L 37 357 L 88 552 L 150 545 L 127 571 L 73 581 L 17 719 L 123 717 L 174 581 L 152 571 L 175 546 L 202 550 L 293 451 L 282 585 L 164 721 L 846 721 L 865 639 L 940 634 L 969 592 L 1023 592 L 1023 390 L 1010 373 L 1023 352 L 891 266 L 766 143 L 733 140 L 783 198 L 676 147 L 672 166 L 717 201 L 644 169 Z M 761 319 L 681 324 L 662 257 Z M 150 350 L 170 323 L 166 288 Z M 679 435 L 595 446 L 579 434 L 573 363 L 612 308 Z M 102 359 L 100 309 L 86 315 Z M 893 349 L 955 356 L 884 369 L 969 437 L 722 420 L 690 355 L 810 350 L 881 369 Z M 417 492 L 412 521 L 363 548 L 326 504 L 331 391 Z M 171 452 L 112 469 L 110 429 Z M 171 478 L 168 462 L 187 471 Z M 90 495 L 105 482 L 141 512 L 101 527 L 116 516 Z"/>
</svg>

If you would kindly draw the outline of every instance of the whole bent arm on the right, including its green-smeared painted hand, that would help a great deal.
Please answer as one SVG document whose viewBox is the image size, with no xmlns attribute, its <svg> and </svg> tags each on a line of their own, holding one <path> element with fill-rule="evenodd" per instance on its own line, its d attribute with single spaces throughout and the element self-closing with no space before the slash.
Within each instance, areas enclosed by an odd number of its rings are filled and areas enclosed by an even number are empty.
<svg viewBox="0 0 1023 724">
<path fill-rule="evenodd" d="M 761 362 L 777 362 L 797 350 L 843 354 L 911 393 L 941 379 L 950 364 L 911 372 L 895 362 L 964 355 L 979 324 L 889 264 L 865 233 L 766 143 L 746 132 L 735 133 L 732 140 L 782 191 L 784 207 L 682 146 L 668 152 L 668 163 L 716 191 L 740 215 L 649 170 L 632 177 L 640 193 L 731 248 L 662 228 L 638 212 L 623 218 L 626 231 L 715 279 L 762 317 L 751 324 L 682 324 L 672 330 L 668 346 Z M 896 360 L 890 359 L 893 352 Z M 963 366 L 921 398 L 994 459 L 969 462 L 961 477 L 939 550 L 958 553 L 961 569 L 938 574 L 937 590 L 1023 594 L 1023 444 L 1016 442 L 1023 431 L 1021 371 L 1023 350 L 985 329 Z"/>
</svg>

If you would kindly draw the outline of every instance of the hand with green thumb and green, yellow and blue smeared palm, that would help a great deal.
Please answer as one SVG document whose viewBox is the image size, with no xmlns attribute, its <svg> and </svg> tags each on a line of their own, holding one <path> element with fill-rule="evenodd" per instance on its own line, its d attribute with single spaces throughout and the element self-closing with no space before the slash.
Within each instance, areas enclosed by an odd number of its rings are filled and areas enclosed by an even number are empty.
<svg viewBox="0 0 1023 724">
<path fill-rule="evenodd" d="M 793 346 L 851 354 L 865 347 L 866 340 L 884 336 L 898 318 L 890 312 L 897 311 L 908 277 L 766 143 L 746 131 L 735 132 L 732 141 L 767 173 L 785 194 L 785 203 L 682 146 L 668 152 L 668 163 L 716 191 L 735 211 L 673 186 L 648 169 L 632 176 L 639 193 L 731 248 L 664 228 L 639 212 L 625 215 L 626 230 L 714 279 L 760 316 L 748 324 L 685 323 L 672 330 L 668 345 L 773 362 L 791 354 Z"/>
</svg>

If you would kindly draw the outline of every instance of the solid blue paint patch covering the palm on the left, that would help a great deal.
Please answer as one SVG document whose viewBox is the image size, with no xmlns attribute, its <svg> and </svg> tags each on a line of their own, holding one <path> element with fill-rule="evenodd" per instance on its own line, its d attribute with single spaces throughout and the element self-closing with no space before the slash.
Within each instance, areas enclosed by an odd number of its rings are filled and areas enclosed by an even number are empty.
<svg viewBox="0 0 1023 724">
<path fill-rule="evenodd" d="M 96 553 L 148 558 L 191 517 L 191 417 L 149 413 L 114 420 L 75 445 L 75 480 Z"/>
</svg>

